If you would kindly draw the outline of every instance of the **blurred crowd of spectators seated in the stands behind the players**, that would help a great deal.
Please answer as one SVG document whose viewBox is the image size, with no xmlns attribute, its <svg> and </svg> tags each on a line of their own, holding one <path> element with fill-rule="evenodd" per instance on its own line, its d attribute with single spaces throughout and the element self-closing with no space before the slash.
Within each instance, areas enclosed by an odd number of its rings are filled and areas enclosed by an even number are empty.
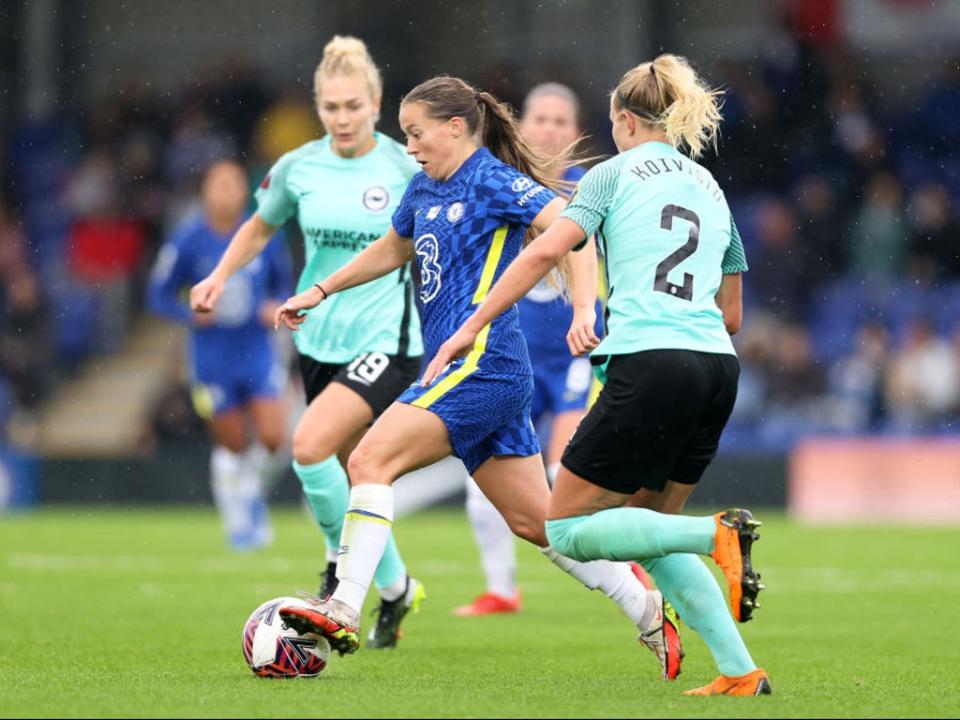
<svg viewBox="0 0 960 720">
<path fill-rule="evenodd" d="M 720 153 L 705 164 L 751 268 L 727 450 L 782 450 L 811 434 L 956 432 L 960 62 L 891 110 L 871 68 L 842 48 L 794 39 L 785 50 L 775 64 L 706 73 L 727 97 Z M 513 90 L 516 102 L 525 88 Z M 610 152 L 602 118 L 585 131 Z M 144 312 L 154 254 L 195 209 L 206 165 L 239 156 L 255 186 L 319 131 L 309 88 L 271 87 L 254 65 L 231 61 L 174 96 L 130 80 L 95 107 L 9 133 L 4 431 L 83 362 L 122 346 Z"/>
</svg>

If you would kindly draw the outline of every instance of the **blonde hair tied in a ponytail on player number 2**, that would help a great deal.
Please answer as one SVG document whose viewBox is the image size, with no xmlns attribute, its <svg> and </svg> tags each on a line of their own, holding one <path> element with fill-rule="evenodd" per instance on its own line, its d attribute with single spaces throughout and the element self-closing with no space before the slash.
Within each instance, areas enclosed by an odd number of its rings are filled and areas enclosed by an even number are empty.
<svg viewBox="0 0 960 720">
<path fill-rule="evenodd" d="M 694 159 L 707 145 L 716 151 L 721 95 L 686 58 L 669 54 L 628 70 L 613 91 L 617 107 L 663 130 L 674 147 L 685 145 Z"/>
</svg>

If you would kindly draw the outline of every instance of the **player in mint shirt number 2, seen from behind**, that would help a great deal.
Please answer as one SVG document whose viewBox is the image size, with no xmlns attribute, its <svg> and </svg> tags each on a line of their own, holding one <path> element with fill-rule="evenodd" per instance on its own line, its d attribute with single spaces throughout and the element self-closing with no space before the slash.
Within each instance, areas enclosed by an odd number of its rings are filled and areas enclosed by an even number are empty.
<svg viewBox="0 0 960 720">
<path fill-rule="evenodd" d="M 424 372 L 472 347 L 568 251 L 597 234 L 609 282 L 607 336 L 579 339 L 605 381 L 561 459 L 547 537 L 575 560 L 635 560 L 704 639 L 720 669 L 693 695 L 770 693 L 734 619 L 763 588 L 747 510 L 679 513 L 717 451 L 737 394 L 730 335 L 740 326 L 743 246 L 723 191 L 692 157 L 716 138 L 719 92 L 684 58 L 660 55 L 613 91 L 618 155 L 581 179 L 569 206 L 519 255 Z M 723 570 L 723 592 L 697 555 Z"/>
</svg>

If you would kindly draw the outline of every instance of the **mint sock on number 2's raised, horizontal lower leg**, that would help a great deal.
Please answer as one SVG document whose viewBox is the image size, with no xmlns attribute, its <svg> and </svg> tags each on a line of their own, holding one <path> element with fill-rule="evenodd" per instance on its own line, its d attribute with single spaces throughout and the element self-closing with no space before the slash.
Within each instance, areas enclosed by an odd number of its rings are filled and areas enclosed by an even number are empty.
<svg viewBox="0 0 960 720">
<path fill-rule="evenodd" d="M 574 560 L 644 560 L 670 553 L 709 555 L 712 516 L 667 515 L 645 508 L 611 508 L 547 521 L 550 546 Z"/>
</svg>

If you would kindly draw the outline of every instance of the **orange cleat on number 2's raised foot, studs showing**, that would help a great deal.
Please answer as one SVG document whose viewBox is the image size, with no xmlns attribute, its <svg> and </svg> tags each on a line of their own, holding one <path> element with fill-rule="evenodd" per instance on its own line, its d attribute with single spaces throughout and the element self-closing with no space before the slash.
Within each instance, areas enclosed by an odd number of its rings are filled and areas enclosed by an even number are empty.
<svg viewBox="0 0 960 720">
<path fill-rule="evenodd" d="M 757 595 L 763 590 L 760 573 L 755 573 L 750 560 L 753 541 L 759 539 L 754 529 L 760 521 L 749 510 L 734 508 L 713 516 L 717 524 L 714 535 L 714 559 L 727 578 L 730 591 L 730 610 L 737 622 L 746 622 L 753 616 Z"/>
</svg>

